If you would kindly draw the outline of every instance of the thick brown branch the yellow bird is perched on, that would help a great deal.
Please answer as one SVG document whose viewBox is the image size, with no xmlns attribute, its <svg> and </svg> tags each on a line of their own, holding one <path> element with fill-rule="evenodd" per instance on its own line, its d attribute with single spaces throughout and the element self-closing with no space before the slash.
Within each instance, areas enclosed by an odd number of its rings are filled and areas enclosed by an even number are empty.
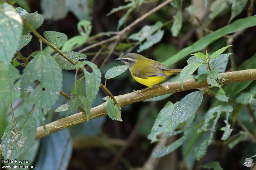
<svg viewBox="0 0 256 170">
<path fill-rule="evenodd" d="M 223 84 L 256 80 L 256 69 L 221 73 L 220 76 L 224 77 L 224 79 L 226 80 L 223 82 Z M 196 79 L 190 78 L 190 79 L 183 81 L 184 89 L 181 88 L 180 81 L 164 83 L 162 86 L 163 86 L 163 88 L 161 88 L 160 86 L 155 86 L 155 87 L 152 87 L 152 88 L 142 91 L 144 96 L 137 94 L 135 92 L 131 92 L 131 93 L 116 96 L 115 99 L 120 107 L 124 107 L 128 104 L 143 101 L 143 100 L 153 98 L 156 96 L 169 94 L 169 93 L 173 93 L 173 92 L 181 92 L 181 91 L 192 90 L 192 89 L 196 89 L 196 88 L 207 87 L 210 85 L 207 84 L 206 80 L 197 84 Z M 99 106 L 93 107 L 90 111 L 89 119 L 92 120 L 97 117 L 107 115 L 106 106 L 107 106 L 107 102 L 104 102 L 104 103 L 100 104 Z M 60 120 L 48 123 L 45 125 L 48 132 L 45 132 L 45 130 L 42 126 L 37 128 L 36 139 L 40 139 L 42 137 L 50 135 L 50 134 L 52 134 L 56 131 L 59 131 L 61 129 L 75 126 L 79 123 L 86 122 L 86 121 L 87 121 L 86 117 L 84 116 L 84 114 L 82 114 L 80 112 L 80 113 L 76 113 L 74 115 L 62 118 Z"/>
</svg>

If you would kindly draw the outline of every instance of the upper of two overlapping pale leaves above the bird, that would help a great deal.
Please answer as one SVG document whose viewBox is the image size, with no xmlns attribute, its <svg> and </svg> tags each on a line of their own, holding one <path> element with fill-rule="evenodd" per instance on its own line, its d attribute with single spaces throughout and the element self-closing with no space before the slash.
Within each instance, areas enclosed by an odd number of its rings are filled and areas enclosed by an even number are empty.
<svg viewBox="0 0 256 170">
<path fill-rule="evenodd" d="M 146 38 L 148 38 L 150 35 L 155 33 L 158 29 L 160 29 L 163 26 L 163 23 L 161 21 L 156 22 L 152 26 L 143 26 L 141 30 L 138 33 L 134 33 L 129 36 L 129 39 L 134 41 L 144 41 Z"/>
</svg>

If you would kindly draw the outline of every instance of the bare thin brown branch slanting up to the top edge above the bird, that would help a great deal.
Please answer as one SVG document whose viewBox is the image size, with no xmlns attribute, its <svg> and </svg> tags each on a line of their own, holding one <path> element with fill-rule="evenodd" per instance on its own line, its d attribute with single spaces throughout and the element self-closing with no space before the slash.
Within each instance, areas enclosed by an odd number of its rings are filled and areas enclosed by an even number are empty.
<svg viewBox="0 0 256 170">
<path fill-rule="evenodd" d="M 135 21 L 133 21 L 129 26 L 125 27 L 123 30 L 117 32 L 116 36 L 114 37 L 111 37 L 107 40 L 103 40 L 103 41 L 100 41 L 98 43 L 95 43 L 95 44 L 92 44 L 90 46 L 87 46 L 81 50 L 78 51 L 78 53 L 82 53 L 88 49 L 91 49 L 91 48 L 94 48 L 94 47 L 97 47 L 101 44 L 104 44 L 106 42 L 109 42 L 109 41 L 113 41 L 113 40 L 116 40 L 116 39 L 120 39 L 122 37 L 122 35 L 124 35 L 124 33 L 126 33 L 127 31 L 129 31 L 133 26 L 137 25 L 138 23 L 140 23 L 141 21 L 143 21 L 145 18 L 147 18 L 149 15 L 153 14 L 154 12 L 160 10 L 161 8 L 163 8 L 165 5 L 169 4 L 170 2 L 172 2 L 173 0 L 167 0 L 165 2 L 163 2 L 162 4 L 156 6 L 155 8 L 153 8 L 152 10 L 148 11 L 147 13 L 145 13 L 144 15 L 142 15 L 140 18 L 136 19 Z"/>
</svg>

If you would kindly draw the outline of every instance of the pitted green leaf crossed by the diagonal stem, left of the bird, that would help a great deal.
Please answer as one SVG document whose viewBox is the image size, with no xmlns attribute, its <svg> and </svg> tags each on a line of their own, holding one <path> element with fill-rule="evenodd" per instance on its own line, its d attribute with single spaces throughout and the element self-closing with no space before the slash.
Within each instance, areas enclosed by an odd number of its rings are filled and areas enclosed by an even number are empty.
<svg viewBox="0 0 256 170">
<path fill-rule="evenodd" d="M 85 60 L 86 59 L 86 55 L 81 54 L 81 53 L 77 53 L 77 52 L 74 52 L 74 51 L 64 51 L 63 53 L 68 55 L 68 57 L 71 60 L 73 60 L 74 62 L 77 62 L 78 60 Z M 75 69 L 75 66 L 73 64 L 71 64 L 68 60 L 66 60 L 63 56 L 61 56 L 60 54 L 56 54 L 54 56 L 54 60 L 59 64 L 60 69 L 64 69 L 64 70 L 73 70 L 73 69 Z"/>
</svg>

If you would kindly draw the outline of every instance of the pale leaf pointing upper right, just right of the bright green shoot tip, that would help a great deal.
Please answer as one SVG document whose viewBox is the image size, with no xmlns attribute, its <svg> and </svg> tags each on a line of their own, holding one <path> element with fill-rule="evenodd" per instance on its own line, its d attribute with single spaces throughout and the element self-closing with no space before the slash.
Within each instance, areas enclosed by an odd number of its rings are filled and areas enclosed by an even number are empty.
<svg viewBox="0 0 256 170">
<path fill-rule="evenodd" d="M 227 53 L 227 54 L 221 54 L 214 58 L 213 60 L 210 60 L 210 66 L 215 72 L 223 73 L 226 70 L 227 64 L 228 64 L 228 57 L 233 53 Z"/>
</svg>

